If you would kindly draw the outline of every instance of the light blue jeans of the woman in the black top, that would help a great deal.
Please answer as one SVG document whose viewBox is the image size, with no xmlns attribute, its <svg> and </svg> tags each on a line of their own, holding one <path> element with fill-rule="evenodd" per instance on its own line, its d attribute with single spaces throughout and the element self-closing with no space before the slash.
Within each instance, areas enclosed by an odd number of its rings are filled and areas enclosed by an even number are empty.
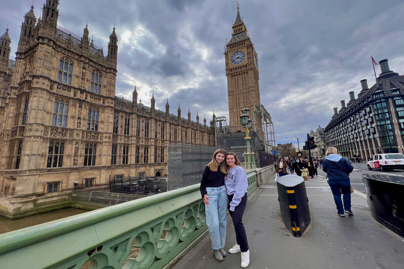
<svg viewBox="0 0 404 269">
<path fill-rule="evenodd" d="M 212 248 L 215 250 L 224 248 L 226 241 L 227 223 L 227 193 L 226 187 L 207 187 L 209 204 L 205 205 L 206 224 L 211 236 Z"/>
</svg>

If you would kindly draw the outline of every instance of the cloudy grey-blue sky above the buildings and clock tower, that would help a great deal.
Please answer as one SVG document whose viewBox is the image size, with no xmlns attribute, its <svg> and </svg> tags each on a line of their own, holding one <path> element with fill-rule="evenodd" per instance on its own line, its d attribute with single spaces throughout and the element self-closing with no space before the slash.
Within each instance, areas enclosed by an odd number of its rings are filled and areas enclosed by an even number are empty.
<svg viewBox="0 0 404 269">
<path fill-rule="evenodd" d="M 38 18 L 45 0 L 35 1 Z M 356 0 L 239 0 L 240 15 L 259 56 L 261 103 L 272 116 L 276 143 L 304 139 L 325 127 L 358 95 L 361 79 L 374 84 L 370 56 L 389 60 L 404 73 L 404 2 Z M 31 0 L 2 0 L 0 29 L 10 24 L 12 55 Z M 118 35 L 117 95 L 139 97 L 182 117 L 188 108 L 209 120 L 213 110 L 228 117 L 225 39 L 231 37 L 236 1 L 61 0 L 58 23 L 82 35 L 88 21 L 94 43 L 106 48 L 115 22 Z M 2 30 L 2 33 L 4 30 Z M 107 49 L 105 49 L 105 52 Z M 376 73 L 380 68 L 376 66 Z"/>
</svg>

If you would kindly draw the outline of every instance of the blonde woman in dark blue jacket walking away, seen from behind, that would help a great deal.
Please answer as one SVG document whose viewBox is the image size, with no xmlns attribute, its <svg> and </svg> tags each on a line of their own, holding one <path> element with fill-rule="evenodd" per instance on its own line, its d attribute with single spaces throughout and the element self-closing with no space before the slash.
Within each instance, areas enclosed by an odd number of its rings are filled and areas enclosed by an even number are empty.
<svg viewBox="0 0 404 269">
<path fill-rule="evenodd" d="M 327 148 L 325 155 L 323 171 L 327 173 L 327 183 L 330 185 L 331 192 L 334 196 L 337 214 L 344 217 L 345 211 L 349 215 L 353 215 L 354 213 L 352 213 L 350 209 L 349 173 L 354 170 L 354 167 L 338 154 L 336 147 Z M 343 204 L 341 193 L 343 195 Z"/>
</svg>

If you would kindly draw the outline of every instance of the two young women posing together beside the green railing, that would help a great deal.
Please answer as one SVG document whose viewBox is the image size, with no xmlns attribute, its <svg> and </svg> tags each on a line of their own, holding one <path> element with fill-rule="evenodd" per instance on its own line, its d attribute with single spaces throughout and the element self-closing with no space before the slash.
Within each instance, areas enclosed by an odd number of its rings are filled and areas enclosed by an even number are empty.
<svg viewBox="0 0 404 269">
<path fill-rule="evenodd" d="M 237 244 L 229 253 L 241 251 L 241 267 L 249 264 L 247 236 L 242 216 L 247 204 L 247 175 L 237 156 L 224 149 L 215 151 L 212 161 L 206 166 L 200 182 L 200 194 L 204 198 L 206 224 L 212 240 L 215 258 L 223 261 L 226 251 L 227 209 L 233 220 Z"/>
</svg>

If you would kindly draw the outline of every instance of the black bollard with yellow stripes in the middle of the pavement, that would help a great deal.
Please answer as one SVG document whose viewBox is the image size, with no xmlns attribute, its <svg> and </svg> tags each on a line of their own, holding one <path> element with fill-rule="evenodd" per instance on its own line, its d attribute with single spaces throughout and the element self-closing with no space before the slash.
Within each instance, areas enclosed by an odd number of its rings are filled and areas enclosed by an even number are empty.
<svg viewBox="0 0 404 269">
<path fill-rule="evenodd" d="M 278 178 L 276 185 L 282 221 L 293 236 L 300 237 L 311 221 L 305 181 L 287 175 Z"/>
</svg>

